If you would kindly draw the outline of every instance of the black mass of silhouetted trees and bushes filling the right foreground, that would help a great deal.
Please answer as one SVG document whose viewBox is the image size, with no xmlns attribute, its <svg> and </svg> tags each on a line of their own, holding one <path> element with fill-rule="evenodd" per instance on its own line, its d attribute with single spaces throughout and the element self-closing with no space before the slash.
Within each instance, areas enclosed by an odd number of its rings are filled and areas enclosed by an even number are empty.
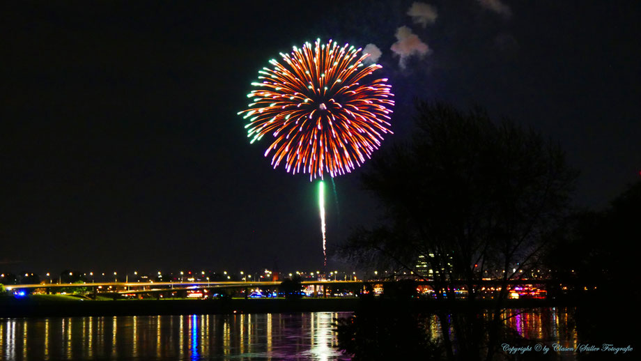
<svg viewBox="0 0 641 361">
<path fill-rule="evenodd" d="M 633 268 L 641 182 L 595 213 L 572 206 L 577 176 L 559 144 L 534 130 L 482 109 L 419 103 L 412 141 L 379 153 L 362 176 L 384 217 L 355 231 L 337 254 L 363 269 L 433 279 L 435 296 L 449 306 L 417 311 L 399 303 L 384 315 L 362 309 L 337 321 L 339 347 L 353 360 L 511 358 L 502 344 L 533 341 L 505 327 L 507 285 L 543 274 L 582 285 L 563 289 L 576 302 L 579 343 L 637 344 L 630 330 L 641 301 Z M 491 305 L 481 297 L 488 278 L 502 282 Z M 458 284 L 466 307 L 454 307 Z"/>
</svg>

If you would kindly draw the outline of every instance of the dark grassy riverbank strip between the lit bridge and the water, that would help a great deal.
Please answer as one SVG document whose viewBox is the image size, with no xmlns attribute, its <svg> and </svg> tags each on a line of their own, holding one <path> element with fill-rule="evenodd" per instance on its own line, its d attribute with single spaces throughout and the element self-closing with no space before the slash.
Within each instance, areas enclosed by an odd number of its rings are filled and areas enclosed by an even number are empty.
<svg viewBox="0 0 641 361">
<path fill-rule="evenodd" d="M 508 300 L 506 308 L 567 306 L 566 302 L 548 300 Z M 353 312 L 376 308 L 380 312 L 412 309 L 431 312 L 435 309 L 463 309 L 465 301 L 445 304 L 436 300 L 390 300 L 358 298 L 284 299 L 217 299 L 217 300 L 73 300 L 16 299 L 0 300 L 0 317 L 45 316 L 149 316 L 173 314 L 277 314 L 296 312 Z M 491 300 L 480 301 L 476 307 L 491 309 Z"/>
</svg>

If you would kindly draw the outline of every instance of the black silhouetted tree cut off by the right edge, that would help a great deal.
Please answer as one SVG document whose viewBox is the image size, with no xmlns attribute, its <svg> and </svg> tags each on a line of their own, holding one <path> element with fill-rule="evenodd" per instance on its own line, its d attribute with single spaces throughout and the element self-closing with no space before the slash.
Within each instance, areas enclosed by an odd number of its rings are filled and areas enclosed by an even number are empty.
<svg viewBox="0 0 641 361">
<path fill-rule="evenodd" d="M 607 209 L 578 213 L 570 231 L 546 254 L 546 266 L 555 277 L 571 280 L 564 296 L 576 302 L 581 339 L 612 339 L 623 346 L 638 343 L 634 332 L 621 327 L 621 320 L 628 325 L 641 321 L 641 279 L 634 267 L 639 258 L 640 204 L 638 181 Z"/>
</svg>

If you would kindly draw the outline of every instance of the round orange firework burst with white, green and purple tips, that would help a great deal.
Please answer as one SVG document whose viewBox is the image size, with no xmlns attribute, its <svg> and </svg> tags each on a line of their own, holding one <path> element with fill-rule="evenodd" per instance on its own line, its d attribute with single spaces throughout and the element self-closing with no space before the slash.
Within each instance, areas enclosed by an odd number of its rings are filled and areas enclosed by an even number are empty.
<svg viewBox="0 0 641 361">
<path fill-rule="evenodd" d="M 368 80 L 381 68 L 363 64 L 369 54 L 359 54 L 348 44 L 330 40 L 293 47 L 270 60 L 273 68 L 259 71 L 261 82 L 252 83 L 249 118 L 245 125 L 251 143 L 265 135 L 274 141 L 272 166 L 283 163 L 292 174 L 309 173 L 309 179 L 327 173 L 334 177 L 360 166 L 380 146 L 389 130 L 394 105 L 387 79 Z"/>
</svg>

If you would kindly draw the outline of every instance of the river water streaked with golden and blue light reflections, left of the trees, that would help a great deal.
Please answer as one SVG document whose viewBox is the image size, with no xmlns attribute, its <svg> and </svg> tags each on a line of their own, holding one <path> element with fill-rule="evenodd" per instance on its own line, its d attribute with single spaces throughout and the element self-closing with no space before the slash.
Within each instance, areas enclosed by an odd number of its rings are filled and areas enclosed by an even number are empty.
<svg viewBox="0 0 641 361">
<path fill-rule="evenodd" d="M 345 360 L 350 313 L 0 318 L 0 360 Z"/>
</svg>

